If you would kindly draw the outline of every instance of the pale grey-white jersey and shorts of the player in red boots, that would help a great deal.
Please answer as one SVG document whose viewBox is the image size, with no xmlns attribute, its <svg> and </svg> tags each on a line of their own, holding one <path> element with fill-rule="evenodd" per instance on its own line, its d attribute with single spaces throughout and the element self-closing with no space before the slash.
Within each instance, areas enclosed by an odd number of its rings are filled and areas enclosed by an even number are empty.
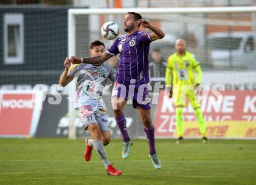
<svg viewBox="0 0 256 185">
<path fill-rule="evenodd" d="M 76 82 L 75 110 L 79 115 L 84 129 L 98 122 L 101 130 L 110 130 L 106 107 L 102 100 L 102 90 L 107 79 L 115 81 L 116 70 L 108 63 L 100 66 L 94 64 L 74 64 L 69 74 Z"/>
</svg>

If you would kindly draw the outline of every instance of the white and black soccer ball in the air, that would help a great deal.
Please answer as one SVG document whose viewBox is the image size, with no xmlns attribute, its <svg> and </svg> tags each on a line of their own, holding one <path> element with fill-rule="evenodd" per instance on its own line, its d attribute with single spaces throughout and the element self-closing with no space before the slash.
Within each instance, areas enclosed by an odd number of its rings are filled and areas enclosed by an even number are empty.
<svg viewBox="0 0 256 185">
<path fill-rule="evenodd" d="M 114 39 L 118 36 L 118 24 L 113 22 L 106 22 L 101 27 L 101 35 L 106 39 Z"/>
</svg>

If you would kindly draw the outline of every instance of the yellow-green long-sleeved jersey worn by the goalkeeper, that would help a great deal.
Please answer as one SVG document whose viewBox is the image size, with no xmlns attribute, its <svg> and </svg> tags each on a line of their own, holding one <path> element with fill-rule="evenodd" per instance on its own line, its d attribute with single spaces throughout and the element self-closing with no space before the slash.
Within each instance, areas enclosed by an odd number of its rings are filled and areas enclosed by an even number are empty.
<svg viewBox="0 0 256 185">
<path fill-rule="evenodd" d="M 197 73 L 195 79 L 195 72 Z M 165 73 L 166 85 L 201 84 L 202 71 L 200 64 L 190 52 L 180 56 L 174 53 L 169 56 Z"/>
</svg>

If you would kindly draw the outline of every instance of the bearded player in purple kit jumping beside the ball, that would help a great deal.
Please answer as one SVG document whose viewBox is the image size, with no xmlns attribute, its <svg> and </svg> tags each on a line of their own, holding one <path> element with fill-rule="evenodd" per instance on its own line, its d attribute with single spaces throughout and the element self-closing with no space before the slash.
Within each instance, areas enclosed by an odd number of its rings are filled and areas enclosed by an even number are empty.
<svg viewBox="0 0 256 185">
<path fill-rule="evenodd" d="M 138 28 L 149 28 L 152 32 L 142 32 Z M 137 109 L 144 126 L 145 136 L 150 148 L 149 157 L 156 169 L 161 169 L 161 162 L 155 150 L 154 125 L 150 115 L 150 101 L 148 93 L 148 54 L 150 43 L 165 36 L 162 30 L 152 26 L 135 12 L 128 12 L 123 20 L 123 27 L 127 34 L 115 40 L 113 45 L 101 56 L 83 58 L 72 56 L 72 63 L 103 63 L 110 57 L 119 54 L 115 85 L 112 90 L 112 107 L 116 123 L 123 136 L 122 157 L 128 158 L 133 142 L 126 129 L 126 118 L 123 108 L 128 96 L 133 99 L 133 107 Z"/>
</svg>

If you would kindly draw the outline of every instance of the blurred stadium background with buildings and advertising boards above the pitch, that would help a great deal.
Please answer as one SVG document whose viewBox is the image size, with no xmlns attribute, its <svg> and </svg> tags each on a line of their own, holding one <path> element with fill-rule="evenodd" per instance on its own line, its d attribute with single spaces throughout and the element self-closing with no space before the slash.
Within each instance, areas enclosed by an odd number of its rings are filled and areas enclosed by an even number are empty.
<svg viewBox="0 0 256 185">
<path fill-rule="evenodd" d="M 60 104 L 50 88 L 58 84 L 63 60 L 68 56 L 67 10 L 70 8 L 182 8 L 218 6 L 255 6 L 256 1 L 1 1 L 0 2 L 0 135 L 1 137 L 67 137 L 69 114 L 67 88 L 59 91 Z M 217 104 L 210 94 L 204 97 L 203 112 L 208 136 L 211 138 L 256 138 L 256 14 L 197 13 L 143 14 L 155 26 L 165 31 L 165 38 L 151 44 L 150 77 L 164 84 L 166 59 L 175 52 L 177 38 L 184 38 L 187 50 L 200 61 L 202 83 L 212 87 L 225 86 L 223 102 Z M 115 21 L 122 31 L 122 14 L 76 16 L 76 55 L 88 56 L 88 43 L 99 39 L 106 48 L 113 41 L 101 37 L 100 28 L 106 21 Z M 147 30 L 143 30 L 147 31 Z M 5 54 L 6 53 L 6 54 Z M 109 61 L 116 67 L 118 57 Z M 109 82 L 111 83 L 111 82 Z M 36 97 L 31 95 L 35 85 L 41 85 Z M 42 91 L 46 91 L 44 96 Z M 54 92 L 56 95 L 56 92 Z M 153 95 L 151 93 L 151 95 Z M 42 110 L 38 108 L 42 101 Z M 45 97 L 45 98 L 44 98 Z M 51 99 L 54 97 L 53 99 Z M 31 101 L 36 99 L 34 106 Z M 113 138 L 120 138 L 111 110 L 111 88 L 104 92 Z M 50 101 L 54 101 L 51 104 Z M 56 105 L 55 105 L 56 104 Z M 20 106 L 21 105 L 21 106 Z M 20 106 L 20 107 L 19 107 Z M 144 137 L 136 111 L 125 110 L 132 137 Z M 152 103 L 151 114 L 157 137 L 176 137 L 175 113 L 172 100 L 160 93 Z M 13 116 L 15 115 L 15 116 Z M 20 118 L 23 119 L 20 119 Z M 193 112 L 185 114 L 186 137 L 199 137 Z M 88 135 L 74 121 L 76 136 Z M 15 128 L 15 129 L 13 129 Z"/>
</svg>

